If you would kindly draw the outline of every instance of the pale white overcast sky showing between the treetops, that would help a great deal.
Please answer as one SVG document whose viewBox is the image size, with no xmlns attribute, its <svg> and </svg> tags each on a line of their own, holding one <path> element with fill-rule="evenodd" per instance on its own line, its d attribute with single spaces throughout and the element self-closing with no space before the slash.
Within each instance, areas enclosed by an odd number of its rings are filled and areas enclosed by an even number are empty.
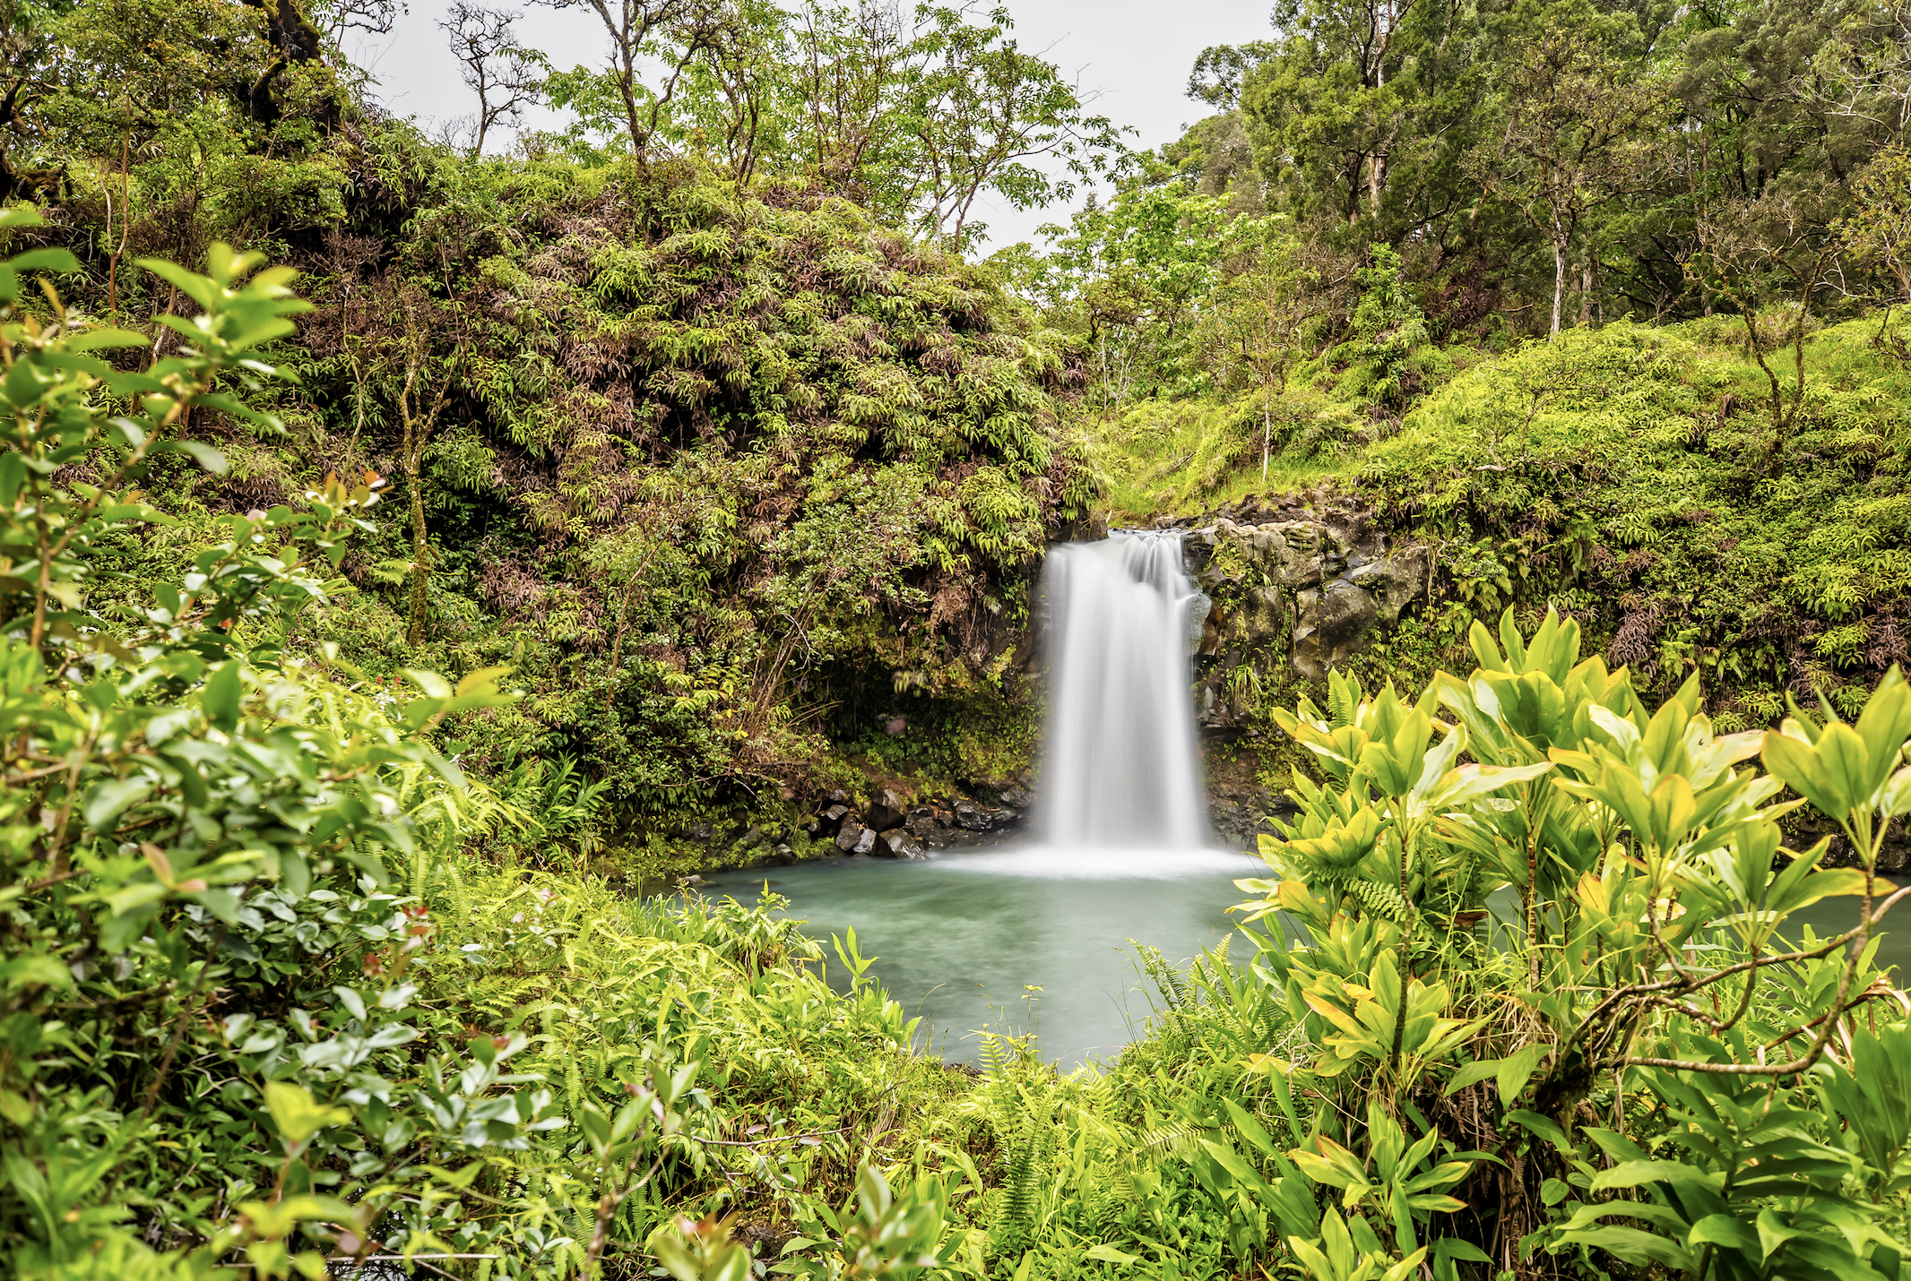
<svg viewBox="0 0 1911 1281">
<path fill-rule="evenodd" d="M 508 2 L 508 0 L 506 0 Z M 411 0 L 390 36 L 359 40 L 352 50 L 361 67 L 378 80 L 386 109 L 417 116 L 420 124 L 445 120 L 476 109 L 476 95 L 459 80 L 459 65 L 438 29 L 447 0 Z M 1189 99 L 1189 69 L 1210 44 L 1240 44 L 1267 34 L 1265 0 L 1009 0 L 1015 34 L 1024 50 L 1047 50 L 1049 61 L 1076 76 L 1084 92 L 1099 94 L 1095 111 L 1116 124 L 1137 130 L 1137 147 L 1160 147 L 1181 136 L 1206 107 Z M 556 67 L 598 65 L 604 34 L 589 10 L 526 10 L 518 23 L 526 44 L 535 44 Z M 531 128 L 558 124 L 552 113 L 537 113 Z M 485 147 L 489 151 L 489 147 Z M 992 246 L 1034 239 L 1045 221 L 1066 221 L 1066 210 L 990 208 L 980 212 L 990 225 Z"/>
</svg>

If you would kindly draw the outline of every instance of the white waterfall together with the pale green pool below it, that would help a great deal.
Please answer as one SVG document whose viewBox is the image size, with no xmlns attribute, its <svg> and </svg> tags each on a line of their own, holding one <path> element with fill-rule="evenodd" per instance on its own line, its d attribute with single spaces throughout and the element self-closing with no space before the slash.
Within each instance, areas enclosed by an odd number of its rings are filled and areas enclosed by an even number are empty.
<svg viewBox="0 0 1911 1281">
<path fill-rule="evenodd" d="M 1112 1056 L 1150 1010 L 1135 943 L 1183 962 L 1233 934 L 1238 876 L 1265 867 L 1208 846 L 1181 535 L 1118 533 L 1049 550 L 1049 724 L 1036 783 L 1040 844 L 927 861 L 776 869 L 812 935 L 856 928 L 925 1048 L 975 1060 L 984 1027 L 1040 1033 L 1045 1058 Z M 747 895 L 762 872 L 715 886 Z"/>
</svg>

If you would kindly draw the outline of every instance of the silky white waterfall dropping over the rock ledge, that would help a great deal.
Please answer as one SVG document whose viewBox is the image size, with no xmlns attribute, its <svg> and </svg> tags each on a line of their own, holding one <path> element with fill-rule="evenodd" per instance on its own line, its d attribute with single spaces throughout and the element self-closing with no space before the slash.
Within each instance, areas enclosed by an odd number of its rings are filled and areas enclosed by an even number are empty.
<svg viewBox="0 0 1911 1281">
<path fill-rule="evenodd" d="M 1041 596 L 1049 725 L 1040 817 L 1047 842 L 1202 848 L 1208 804 L 1189 693 L 1196 592 L 1181 567 L 1179 531 L 1053 548 Z"/>
</svg>

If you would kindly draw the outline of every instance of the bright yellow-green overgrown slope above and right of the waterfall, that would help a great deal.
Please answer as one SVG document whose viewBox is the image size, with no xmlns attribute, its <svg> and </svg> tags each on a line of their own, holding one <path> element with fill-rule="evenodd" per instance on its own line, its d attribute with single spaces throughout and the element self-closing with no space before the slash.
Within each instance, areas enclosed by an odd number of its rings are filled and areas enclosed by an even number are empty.
<svg viewBox="0 0 1911 1281">
<path fill-rule="evenodd" d="M 1290 420 L 1338 430 L 1277 439 L 1267 487 L 1248 403 L 1129 410 L 1101 424 L 1097 460 L 1133 504 L 1114 519 L 1353 508 L 1429 546 L 1429 599 L 1353 659 L 1368 678 L 1456 666 L 1471 619 L 1552 605 L 1642 687 L 1663 693 L 1697 670 L 1720 727 L 1770 724 L 1787 691 L 1850 712 L 1907 657 L 1911 376 L 1873 344 L 1879 325 L 1815 334 L 1802 391 L 1777 367 L 1781 409 L 1798 405 L 1785 431 L 1737 321 L 1716 319 L 1456 351 L 1458 372 L 1397 422 L 1301 391 Z M 1166 510 L 1139 508 L 1145 493 Z M 1217 603 L 1265 586 L 1250 577 L 1231 575 Z M 1265 706 L 1299 678 L 1290 634 L 1259 640 L 1254 680 L 1235 687 Z"/>
</svg>

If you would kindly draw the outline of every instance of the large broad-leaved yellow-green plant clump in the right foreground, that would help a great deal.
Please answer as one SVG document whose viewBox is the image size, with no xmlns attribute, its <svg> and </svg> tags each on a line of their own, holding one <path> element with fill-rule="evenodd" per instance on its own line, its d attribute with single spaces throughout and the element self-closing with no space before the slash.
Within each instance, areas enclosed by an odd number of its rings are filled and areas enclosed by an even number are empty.
<svg viewBox="0 0 1911 1281">
<path fill-rule="evenodd" d="M 1892 670 L 1854 724 L 1793 704 L 1714 735 L 1697 680 L 1647 712 L 1556 615 L 1471 645 L 1414 703 L 1334 674 L 1326 712 L 1280 714 L 1319 781 L 1296 771 L 1273 876 L 1238 884 L 1301 937 L 1254 935 L 1307 1033 L 1267 1071 L 1313 1100 L 1286 1159 L 1345 1214 L 1296 1262 L 1898 1277 L 1911 1004 L 1873 956 L 1911 893 L 1877 872 L 1911 811 L 1911 685 Z M 1806 804 L 1852 865 L 1785 848 Z M 1800 941 L 1829 897 L 1850 928 Z"/>
</svg>

